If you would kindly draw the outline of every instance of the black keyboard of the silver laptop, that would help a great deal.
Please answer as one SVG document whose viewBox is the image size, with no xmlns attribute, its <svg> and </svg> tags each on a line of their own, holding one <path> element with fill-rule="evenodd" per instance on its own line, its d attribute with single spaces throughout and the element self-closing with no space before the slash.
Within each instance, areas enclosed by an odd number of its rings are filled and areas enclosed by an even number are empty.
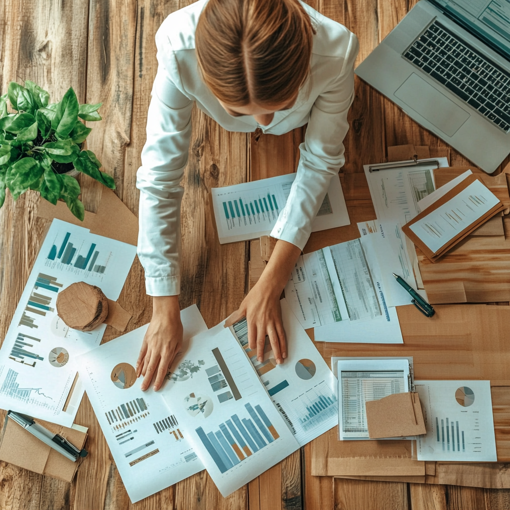
<svg viewBox="0 0 510 510">
<path fill-rule="evenodd" d="M 437 21 L 403 55 L 503 131 L 510 130 L 510 73 Z"/>
</svg>

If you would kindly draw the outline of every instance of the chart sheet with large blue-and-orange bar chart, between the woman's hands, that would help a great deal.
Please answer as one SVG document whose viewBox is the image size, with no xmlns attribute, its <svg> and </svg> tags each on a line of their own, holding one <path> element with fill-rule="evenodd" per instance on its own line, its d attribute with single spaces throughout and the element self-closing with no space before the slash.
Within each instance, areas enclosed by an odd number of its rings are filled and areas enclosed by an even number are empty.
<svg viewBox="0 0 510 510">
<path fill-rule="evenodd" d="M 224 497 L 299 448 L 246 352 L 222 325 L 190 340 L 162 394 Z"/>
</svg>

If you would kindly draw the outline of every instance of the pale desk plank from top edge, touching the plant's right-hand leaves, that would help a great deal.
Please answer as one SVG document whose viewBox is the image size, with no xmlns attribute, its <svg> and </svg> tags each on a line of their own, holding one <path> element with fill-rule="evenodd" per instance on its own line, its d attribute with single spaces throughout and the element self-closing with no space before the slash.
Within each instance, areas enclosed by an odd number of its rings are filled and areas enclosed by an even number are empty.
<svg viewBox="0 0 510 510">
<path fill-rule="evenodd" d="M 103 120 L 87 122 L 87 148 L 112 175 L 122 198 L 124 151 L 129 143 L 135 68 L 137 4 L 129 0 L 92 0 L 87 52 L 87 103 L 103 103 Z M 102 185 L 82 177 L 82 200 L 96 212 Z"/>
</svg>

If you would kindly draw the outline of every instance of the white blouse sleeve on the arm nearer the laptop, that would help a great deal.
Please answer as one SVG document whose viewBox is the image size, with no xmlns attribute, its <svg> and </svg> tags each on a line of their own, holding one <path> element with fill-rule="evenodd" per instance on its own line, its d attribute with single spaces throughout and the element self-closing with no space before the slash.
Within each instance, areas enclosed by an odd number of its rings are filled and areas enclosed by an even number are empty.
<svg viewBox="0 0 510 510">
<path fill-rule="evenodd" d="M 331 177 L 345 163 L 343 140 L 349 129 L 347 113 L 354 100 L 354 60 L 358 39 L 350 34 L 343 62 L 331 58 L 339 73 L 312 107 L 304 143 L 299 146 L 297 175 L 271 236 L 303 249 L 326 195 Z M 312 77 L 313 78 L 313 77 Z"/>
</svg>

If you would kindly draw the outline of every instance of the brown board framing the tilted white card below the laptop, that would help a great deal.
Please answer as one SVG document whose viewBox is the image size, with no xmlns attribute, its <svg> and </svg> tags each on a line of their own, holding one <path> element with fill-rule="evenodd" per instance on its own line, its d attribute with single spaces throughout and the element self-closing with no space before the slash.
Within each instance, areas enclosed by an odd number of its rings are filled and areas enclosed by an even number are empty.
<svg viewBox="0 0 510 510">
<path fill-rule="evenodd" d="M 462 241 L 465 237 L 469 236 L 476 228 L 478 228 L 481 224 L 486 222 L 488 219 L 492 218 L 497 213 L 504 210 L 503 203 L 499 200 L 498 203 L 489 211 L 487 211 L 485 214 L 480 216 L 476 221 L 468 225 L 462 232 L 458 233 L 455 237 L 452 239 L 449 239 L 443 246 L 441 246 L 437 251 L 432 251 L 425 242 L 418 237 L 412 230 L 411 225 L 414 223 L 422 220 L 426 216 L 428 216 L 431 212 L 435 211 L 436 209 L 442 207 L 445 205 L 446 202 L 454 198 L 456 195 L 461 193 L 463 190 L 465 190 L 470 184 L 474 183 L 475 181 L 479 181 L 484 187 L 487 188 L 483 184 L 483 181 L 479 179 L 476 175 L 469 175 L 462 181 L 460 184 L 455 186 L 453 189 L 451 189 L 446 195 L 441 197 L 439 200 L 434 202 L 431 206 L 427 207 L 424 211 L 422 211 L 418 216 L 416 216 L 414 219 L 412 219 L 410 222 L 406 223 L 402 227 L 402 232 L 411 239 L 415 243 L 416 246 L 418 246 L 423 253 L 427 256 L 428 259 L 430 259 L 431 262 L 436 262 L 441 256 L 443 256 L 450 248 L 455 246 L 458 242 Z M 489 188 L 487 190 L 492 193 Z"/>
</svg>

